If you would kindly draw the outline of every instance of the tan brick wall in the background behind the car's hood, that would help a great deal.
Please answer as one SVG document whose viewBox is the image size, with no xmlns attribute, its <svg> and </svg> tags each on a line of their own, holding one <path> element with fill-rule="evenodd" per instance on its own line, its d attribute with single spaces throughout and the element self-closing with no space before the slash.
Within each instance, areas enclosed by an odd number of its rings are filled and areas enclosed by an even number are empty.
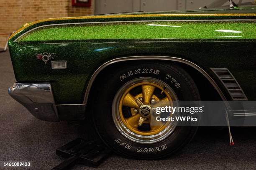
<svg viewBox="0 0 256 170">
<path fill-rule="evenodd" d="M 73 7 L 71 0 L 0 0 L 0 47 L 7 35 L 25 23 L 44 18 L 72 17 L 94 14 L 94 1 L 88 7 Z"/>
</svg>

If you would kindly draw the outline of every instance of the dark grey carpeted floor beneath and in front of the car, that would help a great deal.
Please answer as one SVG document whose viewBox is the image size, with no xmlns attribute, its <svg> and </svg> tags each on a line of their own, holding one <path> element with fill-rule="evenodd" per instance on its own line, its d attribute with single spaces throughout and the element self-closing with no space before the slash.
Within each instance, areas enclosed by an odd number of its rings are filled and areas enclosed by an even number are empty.
<svg viewBox="0 0 256 170">
<path fill-rule="evenodd" d="M 32 162 L 32 169 L 51 169 L 63 159 L 57 147 L 76 137 L 93 138 L 92 124 L 51 123 L 34 118 L 7 93 L 15 81 L 9 53 L 0 53 L 0 162 Z M 164 160 L 129 160 L 112 154 L 99 169 L 256 169 L 256 127 L 232 128 L 235 146 L 230 147 L 227 129 L 200 128 L 194 140 Z M 3 167 L 0 167 L 3 169 Z M 11 168 L 6 168 L 11 169 Z M 18 168 L 14 168 L 18 169 Z M 74 170 L 95 169 L 77 165 Z"/>
</svg>

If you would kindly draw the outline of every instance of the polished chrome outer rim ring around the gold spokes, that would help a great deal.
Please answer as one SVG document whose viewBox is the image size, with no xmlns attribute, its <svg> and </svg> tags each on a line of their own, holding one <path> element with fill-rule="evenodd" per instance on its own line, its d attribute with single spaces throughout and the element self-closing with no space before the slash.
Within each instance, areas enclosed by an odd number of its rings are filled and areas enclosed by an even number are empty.
<svg viewBox="0 0 256 170">
<path fill-rule="evenodd" d="M 174 129 L 177 127 L 177 123 L 178 122 L 174 122 L 174 124 L 169 124 L 163 131 L 159 132 L 158 134 L 154 134 L 154 135 L 149 135 L 149 136 L 144 136 L 144 135 L 140 135 L 140 134 L 136 134 L 134 132 L 131 132 L 130 129 L 128 129 L 122 122 L 121 118 L 120 118 L 120 114 L 119 114 L 119 102 L 120 99 L 122 97 L 123 92 L 125 92 L 125 90 L 127 89 L 127 86 L 131 86 L 132 84 L 136 83 L 136 82 L 143 82 L 143 81 L 154 81 L 154 83 L 156 83 L 155 81 L 157 81 L 156 84 L 164 84 L 167 88 L 167 91 L 171 91 L 172 97 L 174 97 L 176 99 L 176 101 L 178 101 L 178 98 L 175 94 L 175 92 L 172 90 L 172 88 L 166 84 L 165 82 L 152 78 L 152 77 L 140 77 L 140 78 L 136 78 L 133 79 L 129 82 L 127 82 L 126 84 L 124 84 L 116 93 L 114 99 L 113 99 L 113 103 L 112 103 L 112 118 L 113 121 L 115 123 L 115 126 L 117 127 L 118 131 L 127 139 L 133 141 L 133 142 L 137 142 L 137 143 L 141 143 L 141 144 L 152 144 L 152 143 L 156 143 L 159 142 L 161 140 L 164 140 L 166 137 L 169 136 L 169 134 L 171 134 Z M 125 89 L 126 88 L 126 89 Z M 120 94 L 120 95 L 119 95 Z M 178 104 L 178 102 L 176 103 Z M 116 117 L 117 116 L 117 117 Z M 119 120 L 119 121 L 118 121 Z M 172 127 L 171 127 L 172 126 Z"/>
</svg>

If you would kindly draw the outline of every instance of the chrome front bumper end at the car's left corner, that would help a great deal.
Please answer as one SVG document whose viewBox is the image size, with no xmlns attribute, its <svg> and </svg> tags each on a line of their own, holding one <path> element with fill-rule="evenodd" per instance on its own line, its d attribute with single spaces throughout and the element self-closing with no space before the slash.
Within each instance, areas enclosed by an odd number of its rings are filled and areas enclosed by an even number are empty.
<svg viewBox="0 0 256 170">
<path fill-rule="evenodd" d="M 50 83 L 14 83 L 8 93 L 28 109 L 34 117 L 59 122 Z"/>
</svg>

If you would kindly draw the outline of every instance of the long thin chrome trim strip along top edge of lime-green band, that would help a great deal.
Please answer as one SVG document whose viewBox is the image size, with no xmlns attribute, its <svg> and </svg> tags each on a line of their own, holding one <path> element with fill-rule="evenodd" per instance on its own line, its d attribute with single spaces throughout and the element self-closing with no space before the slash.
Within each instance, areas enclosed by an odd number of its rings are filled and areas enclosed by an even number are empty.
<svg viewBox="0 0 256 170">
<path fill-rule="evenodd" d="M 61 24 L 48 24 L 48 25 L 41 25 L 38 26 L 36 28 L 32 28 L 31 30 L 26 31 L 25 33 L 21 34 L 20 36 L 18 36 L 13 42 L 17 41 L 18 39 L 20 39 L 22 36 L 24 36 L 25 34 L 36 30 L 38 28 L 42 28 L 42 27 L 47 27 L 47 26 L 55 26 L 55 25 L 77 25 L 77 24 L 99 24 L 99 23 L 142 23 L 142 22 L 193 22 L 193 21 L 256 21 L 255 19 L 223 19 L 223 20 L 126 20 L 126 21 L 102 21 L 102 22 L 84 22 L 84 23 L 61 23 Z"/>
</svg>

